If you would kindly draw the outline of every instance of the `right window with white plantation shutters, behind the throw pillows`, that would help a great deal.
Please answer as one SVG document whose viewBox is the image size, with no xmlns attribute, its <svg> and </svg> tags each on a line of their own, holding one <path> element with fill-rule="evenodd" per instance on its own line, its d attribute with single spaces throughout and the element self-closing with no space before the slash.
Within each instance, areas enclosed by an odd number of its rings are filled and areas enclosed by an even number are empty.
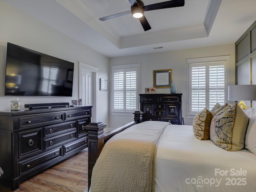
<svg viewBox="0 0 256 192">
<path fill-rule="evenodd" d="M 227 68 L 230 56 L 187 59 L 188 118 L 205 107 L 209 110 L 218 102 L 227 101 Z"/>
</svg>

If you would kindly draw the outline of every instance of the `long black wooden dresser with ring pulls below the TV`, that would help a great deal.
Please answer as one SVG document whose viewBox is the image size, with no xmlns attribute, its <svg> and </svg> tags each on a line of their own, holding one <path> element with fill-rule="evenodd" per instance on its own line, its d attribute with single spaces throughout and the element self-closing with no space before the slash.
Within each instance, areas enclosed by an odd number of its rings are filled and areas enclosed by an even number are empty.
<svg viewBox="0 0 256 192">
<path fill-rule="evenodd" d="M 92 106 L 1 111 L 1 179 L 15 190 L 20 181 L 86 148 L 91 111 Z"/>
</svg>

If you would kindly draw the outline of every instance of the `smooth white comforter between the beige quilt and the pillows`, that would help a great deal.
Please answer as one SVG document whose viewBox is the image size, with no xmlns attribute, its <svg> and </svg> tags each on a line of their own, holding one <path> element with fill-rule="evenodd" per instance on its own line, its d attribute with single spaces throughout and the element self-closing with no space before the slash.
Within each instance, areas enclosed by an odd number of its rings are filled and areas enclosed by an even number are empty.
<svg viewBox="0 0 256 192">
<path fill-rule="evenodd" d="M 155 192 L 255 192 L 256 155 L 198 140 L 192 126 L 170 125 L 156 152 Z"/>
</svg>

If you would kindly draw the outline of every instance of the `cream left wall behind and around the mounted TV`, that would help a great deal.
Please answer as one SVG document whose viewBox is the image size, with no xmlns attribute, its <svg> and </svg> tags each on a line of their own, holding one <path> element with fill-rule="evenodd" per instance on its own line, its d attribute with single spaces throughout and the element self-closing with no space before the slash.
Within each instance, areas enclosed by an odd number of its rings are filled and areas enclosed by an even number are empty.
<svg viewBox="0 0 256 192">
<path fill-rule="evenodd" d="M 24 107 L 24 104 L 31 103 L 71 102 L 71 100 L 76 100 L 79 96 L 78 62 L 98 68 L 98 78 L 108 77 L 109 59 L 106 56 L 0 1 L 0 110 L 10 110 L 10 100 L 12 100 L 12 97 L 4 96 L 7 42 L 74 62 L 72 97 L 20 97 L 22 107 Z M 102 94 L 97 90 L 97 95 L 97 120 L 108 124 L 108 108 L 100 107 L 100 104 L 108 101 L 108 94 Z"/>
</svg>

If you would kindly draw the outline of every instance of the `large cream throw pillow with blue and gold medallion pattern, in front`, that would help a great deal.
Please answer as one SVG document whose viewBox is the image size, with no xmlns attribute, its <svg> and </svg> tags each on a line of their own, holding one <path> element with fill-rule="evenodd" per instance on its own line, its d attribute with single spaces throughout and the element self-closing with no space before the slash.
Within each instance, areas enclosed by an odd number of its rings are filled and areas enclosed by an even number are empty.
<svg viewBox="0 0 256 192">
<path fill-rule="evenodd" d="M 249 118 L 237 103 L 226 112 L 214 116 L 210 125 L 210 140 L 227 151 L 244 148 Z"/>
</svg>

